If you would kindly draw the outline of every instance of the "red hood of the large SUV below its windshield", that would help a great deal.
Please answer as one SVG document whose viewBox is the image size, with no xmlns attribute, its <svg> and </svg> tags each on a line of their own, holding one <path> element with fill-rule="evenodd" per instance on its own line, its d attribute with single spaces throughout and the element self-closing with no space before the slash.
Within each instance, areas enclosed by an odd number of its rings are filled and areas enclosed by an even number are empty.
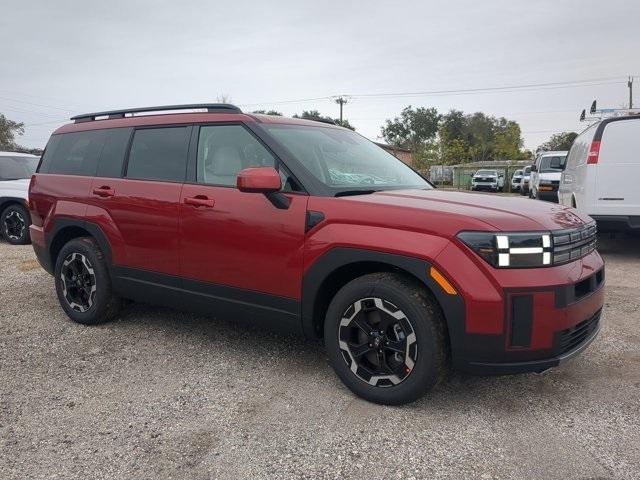
<svg viewBox="0 0 640 480">
<path fill-rule="evenodd" d="M 443 225 L 451 235 L 462 230 L 536 231 L 573 228 L 591 218 L 577 210 L 513 196 L 433 190 L 387 190 L 345 199 L 416 210 L 410 228 Z M 424 214 L 424 215 L 423 215 Z M 429 219 L 428 216 L 432 218 Z M 436 217 L 437 221 L 436 221 Z M 431 223 L 430 220 L 434 220 Z M 441 230 L 440 230 L 441 231 Z M 443 233 L 443 232 L 442 232 Z"/>
</svg>

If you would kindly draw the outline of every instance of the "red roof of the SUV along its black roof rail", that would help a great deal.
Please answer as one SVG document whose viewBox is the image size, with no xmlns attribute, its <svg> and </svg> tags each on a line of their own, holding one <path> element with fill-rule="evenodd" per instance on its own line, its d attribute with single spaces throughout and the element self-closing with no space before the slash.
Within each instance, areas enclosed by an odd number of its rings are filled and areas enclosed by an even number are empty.
<svg viewBox="0 0 640 480">
<path fill-rule="evenodd" d="M 189 123 L 220 123 L 220 122 L 255 122 L 264 124 L 306 125 L 311 127 L 335 128 L 343 127 L 302 118 L 281 117 L 277 115 L 263 115 L 253 113 L 219 113 L 219 112 L 189 112 L 163 113 L 156 115 L 135 115 L 124 118 L 105 118 L 103 120 L 81 121 L 68 123 L 58 128 L 53 135 L 60 133 L 83 132 L 105 128 L 146 127 Z"/>
</svg>

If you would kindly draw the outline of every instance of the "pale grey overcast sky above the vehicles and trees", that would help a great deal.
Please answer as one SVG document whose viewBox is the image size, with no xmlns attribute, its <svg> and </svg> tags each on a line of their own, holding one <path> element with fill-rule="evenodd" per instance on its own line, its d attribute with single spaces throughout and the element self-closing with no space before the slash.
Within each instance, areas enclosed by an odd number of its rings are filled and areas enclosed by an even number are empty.
<svg viewBox="0 0 640 480">
<path fill-rule="evenodd" d="M 212 102 L 345 117 L 376 139 L 406 105 L 517 120 L 527 148 L 580 130 L 582 108 L 628 101 L 640 2 L 0 0 L 0 113 L 43 147 L 71 115 Z M 592 80 L 570 88 L 415 96 Z"/>
</svg>

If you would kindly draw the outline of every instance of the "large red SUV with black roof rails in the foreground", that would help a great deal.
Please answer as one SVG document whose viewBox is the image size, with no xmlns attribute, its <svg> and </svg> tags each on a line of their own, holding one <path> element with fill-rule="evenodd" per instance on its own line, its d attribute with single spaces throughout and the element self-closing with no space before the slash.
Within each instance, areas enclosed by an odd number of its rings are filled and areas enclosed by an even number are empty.
<svg viewBox="0 0 640 480">
<path fill-rule="evenodd" d="M 29 202 L 76 322 L 132 299 L 323 338 L 342 381 L 386 404 L 449 365 L 545 370 L 598 332 L 603 262 L 576 210 L 434 189 L 355 132 L 232 105 L 72 120 Z"/>
</svg>

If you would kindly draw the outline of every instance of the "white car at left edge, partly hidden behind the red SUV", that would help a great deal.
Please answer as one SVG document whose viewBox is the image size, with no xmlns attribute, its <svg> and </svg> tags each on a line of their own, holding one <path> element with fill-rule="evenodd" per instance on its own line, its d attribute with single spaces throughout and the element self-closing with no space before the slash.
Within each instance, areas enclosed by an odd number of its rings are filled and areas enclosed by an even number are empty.
<svg viewBox="0 0 640 480">
<path fill-rule="evenodd" d="M 29 243 L 29 179 L 40 157 L 0 152 L 0 235 L 9 243 Z"/>
</svg>

